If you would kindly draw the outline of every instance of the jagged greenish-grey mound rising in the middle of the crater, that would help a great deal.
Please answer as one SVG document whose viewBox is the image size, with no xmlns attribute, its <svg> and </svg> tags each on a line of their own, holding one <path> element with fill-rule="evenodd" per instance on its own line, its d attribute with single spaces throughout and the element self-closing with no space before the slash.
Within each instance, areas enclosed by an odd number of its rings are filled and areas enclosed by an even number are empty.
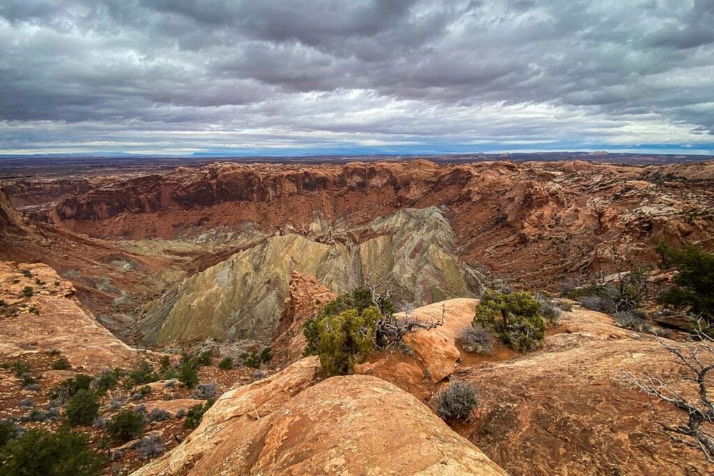
<svg viewBox="0 0 714 476">
<path fill-rule="evenodd" d="M 147 304 L 147 342 L 205 338 L 268 339 L 288 297 L 293 271 L 342 293 L 363 278 L 392 277 L 403 299 L 418 304 L 473 297 L 485 278 L 453 255 L 451 227 L 436 207 L 378 218 L 324 243 L 298 233 L 273 236 L 196 273 Z"/>
</svg>

